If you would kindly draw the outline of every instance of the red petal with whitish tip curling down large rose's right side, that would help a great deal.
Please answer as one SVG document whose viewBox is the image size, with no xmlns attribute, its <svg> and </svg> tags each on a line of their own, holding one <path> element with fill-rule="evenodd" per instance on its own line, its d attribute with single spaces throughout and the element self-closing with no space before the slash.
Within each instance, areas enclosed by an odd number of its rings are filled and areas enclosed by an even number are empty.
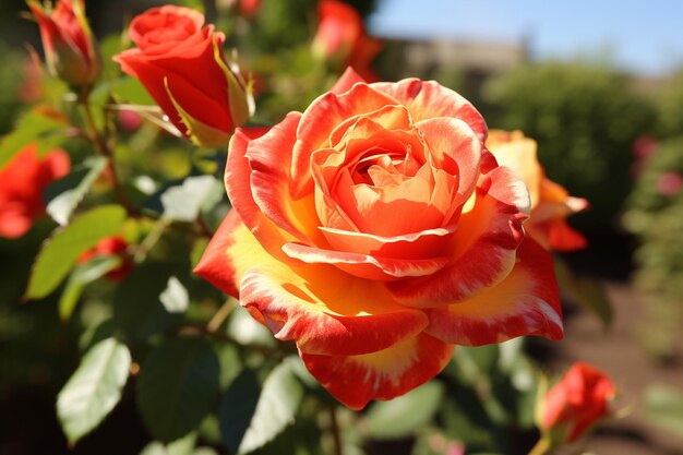
<svg viewBox="0 0 683 455">
<path fill-rule="evenodd" d="M 429 308 L 496 285 L 515 265 L 528 204 L 522 180 L 505 167 L 494 168 L 483 176 L 458 220 L 451 264 L 431 276 L 391 283 L 390 289 L 403 304 Z"/>
</svg>

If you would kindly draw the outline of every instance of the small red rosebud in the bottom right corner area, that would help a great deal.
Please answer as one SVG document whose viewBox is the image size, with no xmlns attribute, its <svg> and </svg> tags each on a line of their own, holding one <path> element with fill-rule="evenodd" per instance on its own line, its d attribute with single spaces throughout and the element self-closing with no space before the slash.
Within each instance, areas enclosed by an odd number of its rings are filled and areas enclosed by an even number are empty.
<svg viewBox="0 0 683 455">
<path fill-rule="evenodd" d="M 608 375 L 576 362 L 541 402 L 539 427 L 554 434 L 554 444 L 574 442 L 609 414 L 614 394 Z"/>
</svg>

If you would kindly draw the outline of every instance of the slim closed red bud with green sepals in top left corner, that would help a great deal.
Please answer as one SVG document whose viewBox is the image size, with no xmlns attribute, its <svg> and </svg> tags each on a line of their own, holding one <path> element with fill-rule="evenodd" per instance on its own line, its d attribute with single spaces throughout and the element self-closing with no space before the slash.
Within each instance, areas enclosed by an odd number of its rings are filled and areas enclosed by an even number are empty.
<svg viewBox="0 0 683 455">
<path fill-rule="evenodd" d="M 101 60 L 83 0 L 59 0 L 55 10 L 28 1 L 28 8 L 40 27 L 50 73 L 72 87 L 95 82 L 101 72 Z"/>
</svg>

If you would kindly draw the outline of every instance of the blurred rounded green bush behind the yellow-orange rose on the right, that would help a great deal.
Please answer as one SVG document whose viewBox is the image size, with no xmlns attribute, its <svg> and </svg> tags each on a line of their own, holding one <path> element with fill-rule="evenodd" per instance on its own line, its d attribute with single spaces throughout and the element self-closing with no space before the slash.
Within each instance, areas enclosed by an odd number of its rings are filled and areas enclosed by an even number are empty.
<svg viewBox="0 0 683 455">
<path fill-rule="evenodd" d="M 526 64 L 490 80 L 483 96 L 490 125 L 536 139 L 548 175 L 590 201 L 577 224 L 613 228 L 631 190 L 632 144 L 654 123 L 652 106 L 626 79 L 579 63 Z"/>
</svg>

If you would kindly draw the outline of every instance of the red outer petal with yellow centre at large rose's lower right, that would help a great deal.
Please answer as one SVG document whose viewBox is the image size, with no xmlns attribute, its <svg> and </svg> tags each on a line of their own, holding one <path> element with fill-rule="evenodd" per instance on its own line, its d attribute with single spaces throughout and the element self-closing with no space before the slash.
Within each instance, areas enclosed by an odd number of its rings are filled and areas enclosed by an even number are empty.
<svg viewBox="0 0 683 455">
<path fill-rule="evenodd" d="M 427 333 L 445 343 L 480 346 L 526 335 L 562 338 L 562 310 L 552 256 L 532 239 L 496 286 L 469 299 L 426 310 Z"/>
</svg>

